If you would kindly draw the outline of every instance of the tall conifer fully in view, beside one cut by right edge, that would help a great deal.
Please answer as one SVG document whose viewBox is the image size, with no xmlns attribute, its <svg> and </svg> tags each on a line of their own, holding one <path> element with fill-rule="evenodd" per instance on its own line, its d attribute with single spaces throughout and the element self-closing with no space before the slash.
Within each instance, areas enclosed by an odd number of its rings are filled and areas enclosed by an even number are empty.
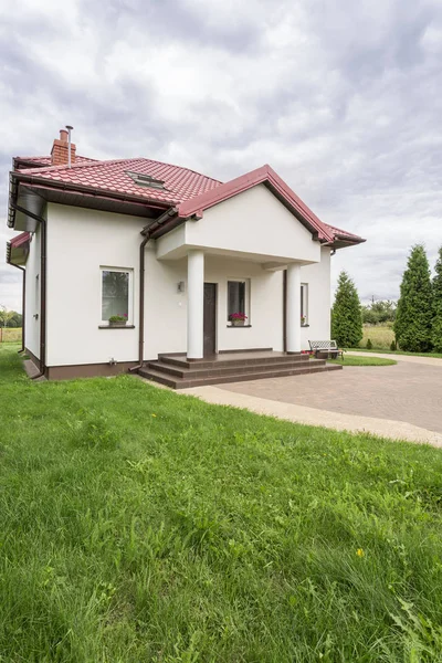
<svg viewBox="0 0 442 663">
<path fill-rule="evenodd" d="M 425 249 L 411 249 L 402 276 L 394 322 L 396 340 L 402 350 L 428 352 L 431 349 L 432 287 Z"/>
</svg>

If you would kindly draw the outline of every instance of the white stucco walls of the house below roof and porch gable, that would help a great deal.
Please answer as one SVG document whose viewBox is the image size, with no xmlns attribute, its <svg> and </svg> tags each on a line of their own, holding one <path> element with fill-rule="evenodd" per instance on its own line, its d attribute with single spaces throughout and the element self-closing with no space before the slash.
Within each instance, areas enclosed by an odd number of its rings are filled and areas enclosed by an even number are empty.
<svg viewBox="0 0 442 663">
<path fill-rule="evenodd" d="M 292 223 L 293 223 L 292 218 Z M 46 365 L 71 366 L 138 359 L 138 270 L 140 230 L 135 217 L 50 204 L 48 208 L 48 338 Z M 296 222 L 295 222 L 296 225 Z M 302 229 L 304 231 L 304 229 Z M 28 274 L 39 264 L 31 243 Z M 146 248 L 145 359 L 187 348 L 187 259 L 159 261 L 156 242 Z M 308 323 L 302 330 L 303 348 L 309 338 L 329 337 L 329 250 L 320 263 L 302 267 L 308 283 Z M 218 350 L 283 348 L 283 273 L 261 264 L 206 255 L 204 281 L 218 284 Z M 99 329 L 101 266 L 133 270 L 134 329 Z M 228 328 L 227 282 L 250 280 L 250 328 Z M 27 314 L 32 315 L 33 278 L 28 284 Z M 178 283 L 185 282 L 185 292 Z M 39 326 L 35 325 L 38 332 Z M 28 329 L 27 345 L 38 355 L 39 339 Z"/>
</svg>

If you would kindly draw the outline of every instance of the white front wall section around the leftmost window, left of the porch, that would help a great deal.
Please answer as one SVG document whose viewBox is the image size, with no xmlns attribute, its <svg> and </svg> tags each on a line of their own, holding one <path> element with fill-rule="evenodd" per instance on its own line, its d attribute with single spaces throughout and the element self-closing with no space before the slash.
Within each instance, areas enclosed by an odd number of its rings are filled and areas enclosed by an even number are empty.
<svg viewBox="0 0 442 663">
<path fill-rule="evenodd" d="M 138 276 L 145 220 L 48 206 L 46 365 L 105 364 L 138 358 Z M 101 266 L 134 272 L 135 329 L 99 329 Z"/>
</svg>

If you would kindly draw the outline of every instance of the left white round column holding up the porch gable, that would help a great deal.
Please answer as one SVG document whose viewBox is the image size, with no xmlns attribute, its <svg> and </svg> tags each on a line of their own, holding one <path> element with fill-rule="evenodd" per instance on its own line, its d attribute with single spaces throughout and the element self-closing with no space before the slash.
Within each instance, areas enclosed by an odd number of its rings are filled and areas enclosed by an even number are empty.
<svg viewBox="0 0 442 663">
<path fill-rule="evenodd" d="M 204 253 L 187 254 L 187 357 L 202 359 L 204 324 Z"/>
</svg>

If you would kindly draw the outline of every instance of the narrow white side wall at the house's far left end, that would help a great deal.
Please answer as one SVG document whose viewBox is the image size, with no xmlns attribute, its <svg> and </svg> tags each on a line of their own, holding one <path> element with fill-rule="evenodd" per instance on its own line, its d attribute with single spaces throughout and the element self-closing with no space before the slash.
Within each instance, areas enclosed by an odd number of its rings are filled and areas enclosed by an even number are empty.
<svg viewBox="0 0 442 663">
<path fill-rule="evenodd" d="M 38 224 L 32 235 L 27 260 L 27 290 L 25 290 L 25 319 L 24 344 L 25 347 L 40 359 L 40 246 L 41 230 Z M 36 280 L 36 276 L 39 278 Z M 34 317 L 38 315 L 38 317 Z"/>
</svg>

